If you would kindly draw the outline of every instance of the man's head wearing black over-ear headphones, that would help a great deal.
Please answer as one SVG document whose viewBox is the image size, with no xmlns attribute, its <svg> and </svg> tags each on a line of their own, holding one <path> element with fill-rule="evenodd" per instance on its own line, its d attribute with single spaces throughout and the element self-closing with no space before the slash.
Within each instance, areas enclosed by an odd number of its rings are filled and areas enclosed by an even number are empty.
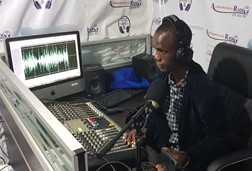
<svg viewBox="0 0 252 171">
<path fill-rule="evenodd" d="M 191 29 L 184 21 L 175 15 L 164 17 L 153 36 L 155 60 L 159 70 L 172 72 L 189 64 L 193 54 L 190 48 L 191 39 Z"/>
</svg>

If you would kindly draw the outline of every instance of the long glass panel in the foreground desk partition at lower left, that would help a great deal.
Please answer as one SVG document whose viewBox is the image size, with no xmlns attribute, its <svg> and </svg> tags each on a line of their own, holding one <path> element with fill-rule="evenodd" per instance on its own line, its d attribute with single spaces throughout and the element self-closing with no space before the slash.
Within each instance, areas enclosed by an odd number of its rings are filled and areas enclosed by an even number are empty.
<svg viewBox="0 0 252 171">
<path fill-rule="evenodd" d="M 8 98 L 16 114 L 33 137 L 54 170 L 74 170 L 73 157 L 55 138 L 38 114 L 23 98 L 19 90 L 0 72 L 0 90 Z"/>
</svg>

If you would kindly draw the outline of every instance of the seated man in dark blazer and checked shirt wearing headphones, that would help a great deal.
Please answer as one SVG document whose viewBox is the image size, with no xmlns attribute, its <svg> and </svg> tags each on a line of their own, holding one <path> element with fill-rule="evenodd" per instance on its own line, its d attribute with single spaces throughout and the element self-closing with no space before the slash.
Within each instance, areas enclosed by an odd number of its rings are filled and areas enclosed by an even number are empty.
<svg viewBox="0 0 252 171">
<path fill-rule="evenodd" d="M 192 60 L 191 38 L 189 26 L 175 15 L 165 17 L 153 36 L 158 78 L 169 89 L 164 104 L 150 115 L 144 137 L 158 153 L 169 152 L 178 169 L 204 171 L 226 150 L 226 124 L 212 80 Z M 125 136 L 129 145 L 136 141 L 135 132 Z M 160 164 L 156 168 L 165 170 Z"/>
</svg>

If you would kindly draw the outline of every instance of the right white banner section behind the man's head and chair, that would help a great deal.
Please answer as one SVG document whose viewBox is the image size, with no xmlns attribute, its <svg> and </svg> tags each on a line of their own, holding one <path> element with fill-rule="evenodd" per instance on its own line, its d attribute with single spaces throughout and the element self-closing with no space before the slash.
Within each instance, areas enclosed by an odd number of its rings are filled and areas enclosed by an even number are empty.
<svg viewBox="0 0 252 171">
<path fill-rule="evenodd" d="M 205 71 L 214 47 L 220 42 L 252 49 L 252 32 L 249 30 L 252 2 L 236 0 L 153 0 L 154 15 L 151 34 L 164 16 L 175 14 L 191 28 L 193 59 Z"/>
</svg>

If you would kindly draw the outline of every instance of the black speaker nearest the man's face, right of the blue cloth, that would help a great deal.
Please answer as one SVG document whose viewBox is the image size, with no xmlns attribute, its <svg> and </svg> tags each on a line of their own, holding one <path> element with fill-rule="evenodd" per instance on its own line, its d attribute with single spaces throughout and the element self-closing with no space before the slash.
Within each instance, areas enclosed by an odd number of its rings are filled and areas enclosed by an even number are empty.
<svg viewBox="0 0 252 171">
<path fill-rule="evenodd" d="M 132 57 L 132 66 L 136 74 L 149 82 L 156 77 L 156 62 L 153 55 L 141 53 Z"/>
</svg>

